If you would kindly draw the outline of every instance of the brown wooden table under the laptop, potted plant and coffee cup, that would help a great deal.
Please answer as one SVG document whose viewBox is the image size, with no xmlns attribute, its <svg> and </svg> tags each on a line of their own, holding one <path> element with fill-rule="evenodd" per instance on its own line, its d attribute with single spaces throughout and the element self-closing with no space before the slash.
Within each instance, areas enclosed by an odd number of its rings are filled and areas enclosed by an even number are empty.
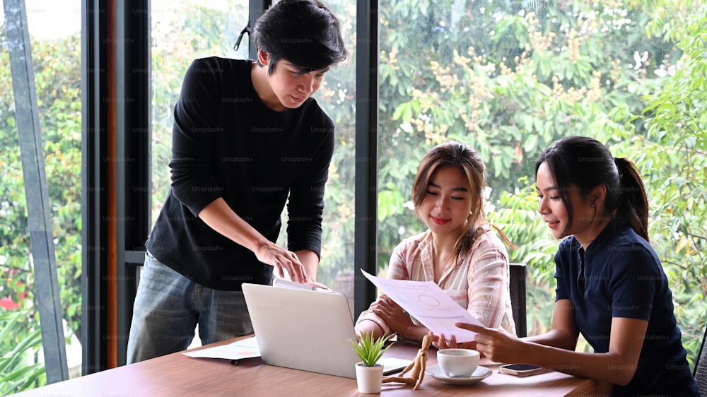
<svg viewBox="0 0 707 397">
<path fill-rule="evenodd" d="M 233 343 L 237 339 L 206 347 Z M 203 348 L 203 347 L 202 347 Z M 387 355 L 413 359 L 419 347 L 398 342 Z M 498 364 L 479 363 L 493 375 L 471 385 L 449 385 L 426 375 L 421 389 L 383 384 L 382 396 L 604 396 L 611 385 L 559 372 L 518 378 L 498 374 Z M 428 367 L 437 365 L 436 349 Z M 193 358 L 174 353 L 85 377 L 50 384 L 15 396 L 369 396 L 359 394 L 356 379 L 333 377 L 265 365 L 260 358 L 228 360 Z"/>
</svg>

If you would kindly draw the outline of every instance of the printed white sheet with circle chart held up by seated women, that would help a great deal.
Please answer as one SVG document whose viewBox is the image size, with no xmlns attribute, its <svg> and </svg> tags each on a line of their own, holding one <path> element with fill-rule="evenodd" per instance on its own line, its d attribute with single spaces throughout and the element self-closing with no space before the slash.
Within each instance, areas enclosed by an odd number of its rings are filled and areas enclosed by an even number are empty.
<svg viewBox="0 0 707 397">
<path fill-rule="evenodd" d="M 447 339 L 454 335 L 457 342 L 468 342 L 474 340 L 476 333 L 458 328 L 454 324 L 462 322 L 484 326 L 433 281 L 391 280 L 376 277 L 363 269 L 361 272 L 382 293 L 435 335 L 443 333 Z"/>
</svg>

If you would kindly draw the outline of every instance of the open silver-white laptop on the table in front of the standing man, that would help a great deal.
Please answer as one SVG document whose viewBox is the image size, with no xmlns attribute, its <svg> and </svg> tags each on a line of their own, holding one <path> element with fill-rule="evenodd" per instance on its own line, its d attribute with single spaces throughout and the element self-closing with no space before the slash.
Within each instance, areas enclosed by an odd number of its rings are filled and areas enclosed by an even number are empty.
<svg viewBox="0 0 707 397">
<path fill-rule="evenodd" d="M 349 302 L 339 293 L 243 284 L 260 355 L 268 365 L 355 378 L 361 360 Z M 389 374 L 410 360 L 383 357 Z"/>
</svg>

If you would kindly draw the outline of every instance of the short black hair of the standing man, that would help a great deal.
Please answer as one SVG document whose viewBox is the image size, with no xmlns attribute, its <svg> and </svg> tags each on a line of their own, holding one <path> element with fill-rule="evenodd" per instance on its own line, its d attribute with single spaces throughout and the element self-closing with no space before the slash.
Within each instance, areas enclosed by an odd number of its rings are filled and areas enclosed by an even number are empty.
<svg viewBox="0 0 707 397">
<path fill-rule="evenodd" d="M 281 0 L 258 18 L 253 42 L 269 55 L 268 74 L 286 59 L 301 73 L 346 59 L 339 19 L 319 0 Z"/>
</svg>

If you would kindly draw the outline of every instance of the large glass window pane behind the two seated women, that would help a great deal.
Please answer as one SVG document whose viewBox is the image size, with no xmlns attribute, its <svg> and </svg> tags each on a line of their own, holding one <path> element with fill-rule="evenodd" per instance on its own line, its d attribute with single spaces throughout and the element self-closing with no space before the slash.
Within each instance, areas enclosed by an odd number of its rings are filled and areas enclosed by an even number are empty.
<svg viewBox="0 0 707 397">
<path fill-rule="evenodd" d="M 423 154 L 462 141 L 486 162 L 489 219 L 519 246 L 510 260 L 529 267 L 529 333 L 546 331 L 558 242 L 537 214 L 534 160 L 557 138 L 591 136 L 643 174 L 651 242 L 694 362 L 707 322 L 696 298 L 707 273 L 705 47 L 692 40 L 704 5 L 400 0 L 379 11 L 378 266 L 423 230 L 405 205 Z"/>
</svg>

